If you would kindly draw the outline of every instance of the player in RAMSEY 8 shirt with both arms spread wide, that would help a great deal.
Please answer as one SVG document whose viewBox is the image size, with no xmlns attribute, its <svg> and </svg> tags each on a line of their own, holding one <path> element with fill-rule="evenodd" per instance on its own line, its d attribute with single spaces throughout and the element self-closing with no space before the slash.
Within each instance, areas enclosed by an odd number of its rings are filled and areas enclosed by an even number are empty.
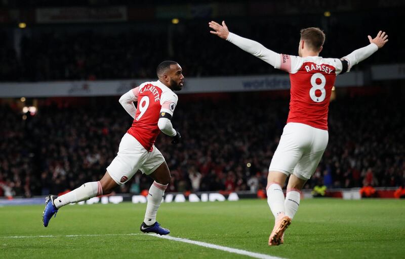
<svg viewBox="0 0 405 259">
<path fill-rule="evenodd" d="M 328 144 L 328 109 L 336 76 L 349 72 L 383 47 L 388 35 L 380 31 L 374 39 L 368 36 L 369 45 L 342 59 L 325 59 L 319 57 L 325 41 L 325 34 L 319 28 L 301 30 L 297 57 L 277 54 L 256 41 L 231 33 L 225 22 L 221 26 L 212 21 L 209 26 L 214 30 L 212 34 L 290 73 L 290 113 L 270 163 L 266 187 L 267 202 L 275 218 L 268 244 L 279 245 L 284 242 L 284 232 L 298 210 L 301 189 L 314 173 Z M 282 186 L 288 176 L 284 197 Z"/>
</svg>

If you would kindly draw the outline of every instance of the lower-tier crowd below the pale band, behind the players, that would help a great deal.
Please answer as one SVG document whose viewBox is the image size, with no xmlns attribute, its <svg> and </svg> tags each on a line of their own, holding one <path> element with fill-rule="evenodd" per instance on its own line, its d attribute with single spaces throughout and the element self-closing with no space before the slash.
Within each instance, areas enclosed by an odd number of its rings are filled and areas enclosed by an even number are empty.
<svg viewBox="0 0 405 259">
<path fill-rule="evenodd" d="M 183 143 L 172 145 L 164 134 L 156 141 L 172 173 L 170 192 L 256 192 L 266 187 L 288 100 L 261 95 L 179 96 L 173 124 Z M 328 148 L 306 188 L 404 184 L 405 102 L 389 96 L 331 102 Z M 19 111 L 1 107 L 0 196 L 57 194 L 104 175 L 132 118 L 116 97 L 86 101 L 88 105 L 41 106 L 26 120 Z M 116 191 L 139 193 L 150 184 L 138 172 Z"/>
</svg>

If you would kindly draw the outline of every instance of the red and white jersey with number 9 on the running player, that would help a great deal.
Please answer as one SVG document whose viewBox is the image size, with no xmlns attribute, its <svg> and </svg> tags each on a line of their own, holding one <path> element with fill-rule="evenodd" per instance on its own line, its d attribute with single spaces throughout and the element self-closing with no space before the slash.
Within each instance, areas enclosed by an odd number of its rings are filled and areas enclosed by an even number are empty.
<svg viewBox="0 0 405 259">
<path fill-rule="evenodd" d="M 177 95 L 160 81 L 145 82 L 132 89 L 138 100 L 134 122 L 127 131 L 134 136 L 146 150 L 152 151 L 153 144 L 160 133 L 157 126 L 160 113 L 173 112 L 177 105 Z"/>
</svg>

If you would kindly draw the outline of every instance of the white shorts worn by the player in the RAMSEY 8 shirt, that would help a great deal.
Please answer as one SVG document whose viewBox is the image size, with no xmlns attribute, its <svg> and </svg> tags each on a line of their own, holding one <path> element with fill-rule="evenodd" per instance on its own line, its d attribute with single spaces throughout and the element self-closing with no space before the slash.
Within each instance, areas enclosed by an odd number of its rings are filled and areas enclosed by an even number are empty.
<svg viewBox="0 0 405 259">
<path fill-rule="evenodd" d="M 302 123 L 287 123 L 269 171 L 294 174 L 303 180 L 311 178 L 328 145 L 328 139 L 327 130 Z"/>
</svg>

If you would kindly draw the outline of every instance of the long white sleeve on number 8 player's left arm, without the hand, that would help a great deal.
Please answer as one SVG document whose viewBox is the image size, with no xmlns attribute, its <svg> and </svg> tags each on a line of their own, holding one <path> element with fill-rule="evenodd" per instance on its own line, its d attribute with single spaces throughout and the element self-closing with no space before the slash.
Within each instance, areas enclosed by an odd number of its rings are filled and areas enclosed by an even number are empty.
<svg viewBox="0 0 405 259">
<path fill-rule="evenodd" d="M 274 51 L 264 47 L 257 41 L 240 37 L 232 32 L 229 32 L 227 41 L 235 44 L 246 52 L 270 64 L 274 68 L 280 68 L 280 55 Z"/>
</svg>

